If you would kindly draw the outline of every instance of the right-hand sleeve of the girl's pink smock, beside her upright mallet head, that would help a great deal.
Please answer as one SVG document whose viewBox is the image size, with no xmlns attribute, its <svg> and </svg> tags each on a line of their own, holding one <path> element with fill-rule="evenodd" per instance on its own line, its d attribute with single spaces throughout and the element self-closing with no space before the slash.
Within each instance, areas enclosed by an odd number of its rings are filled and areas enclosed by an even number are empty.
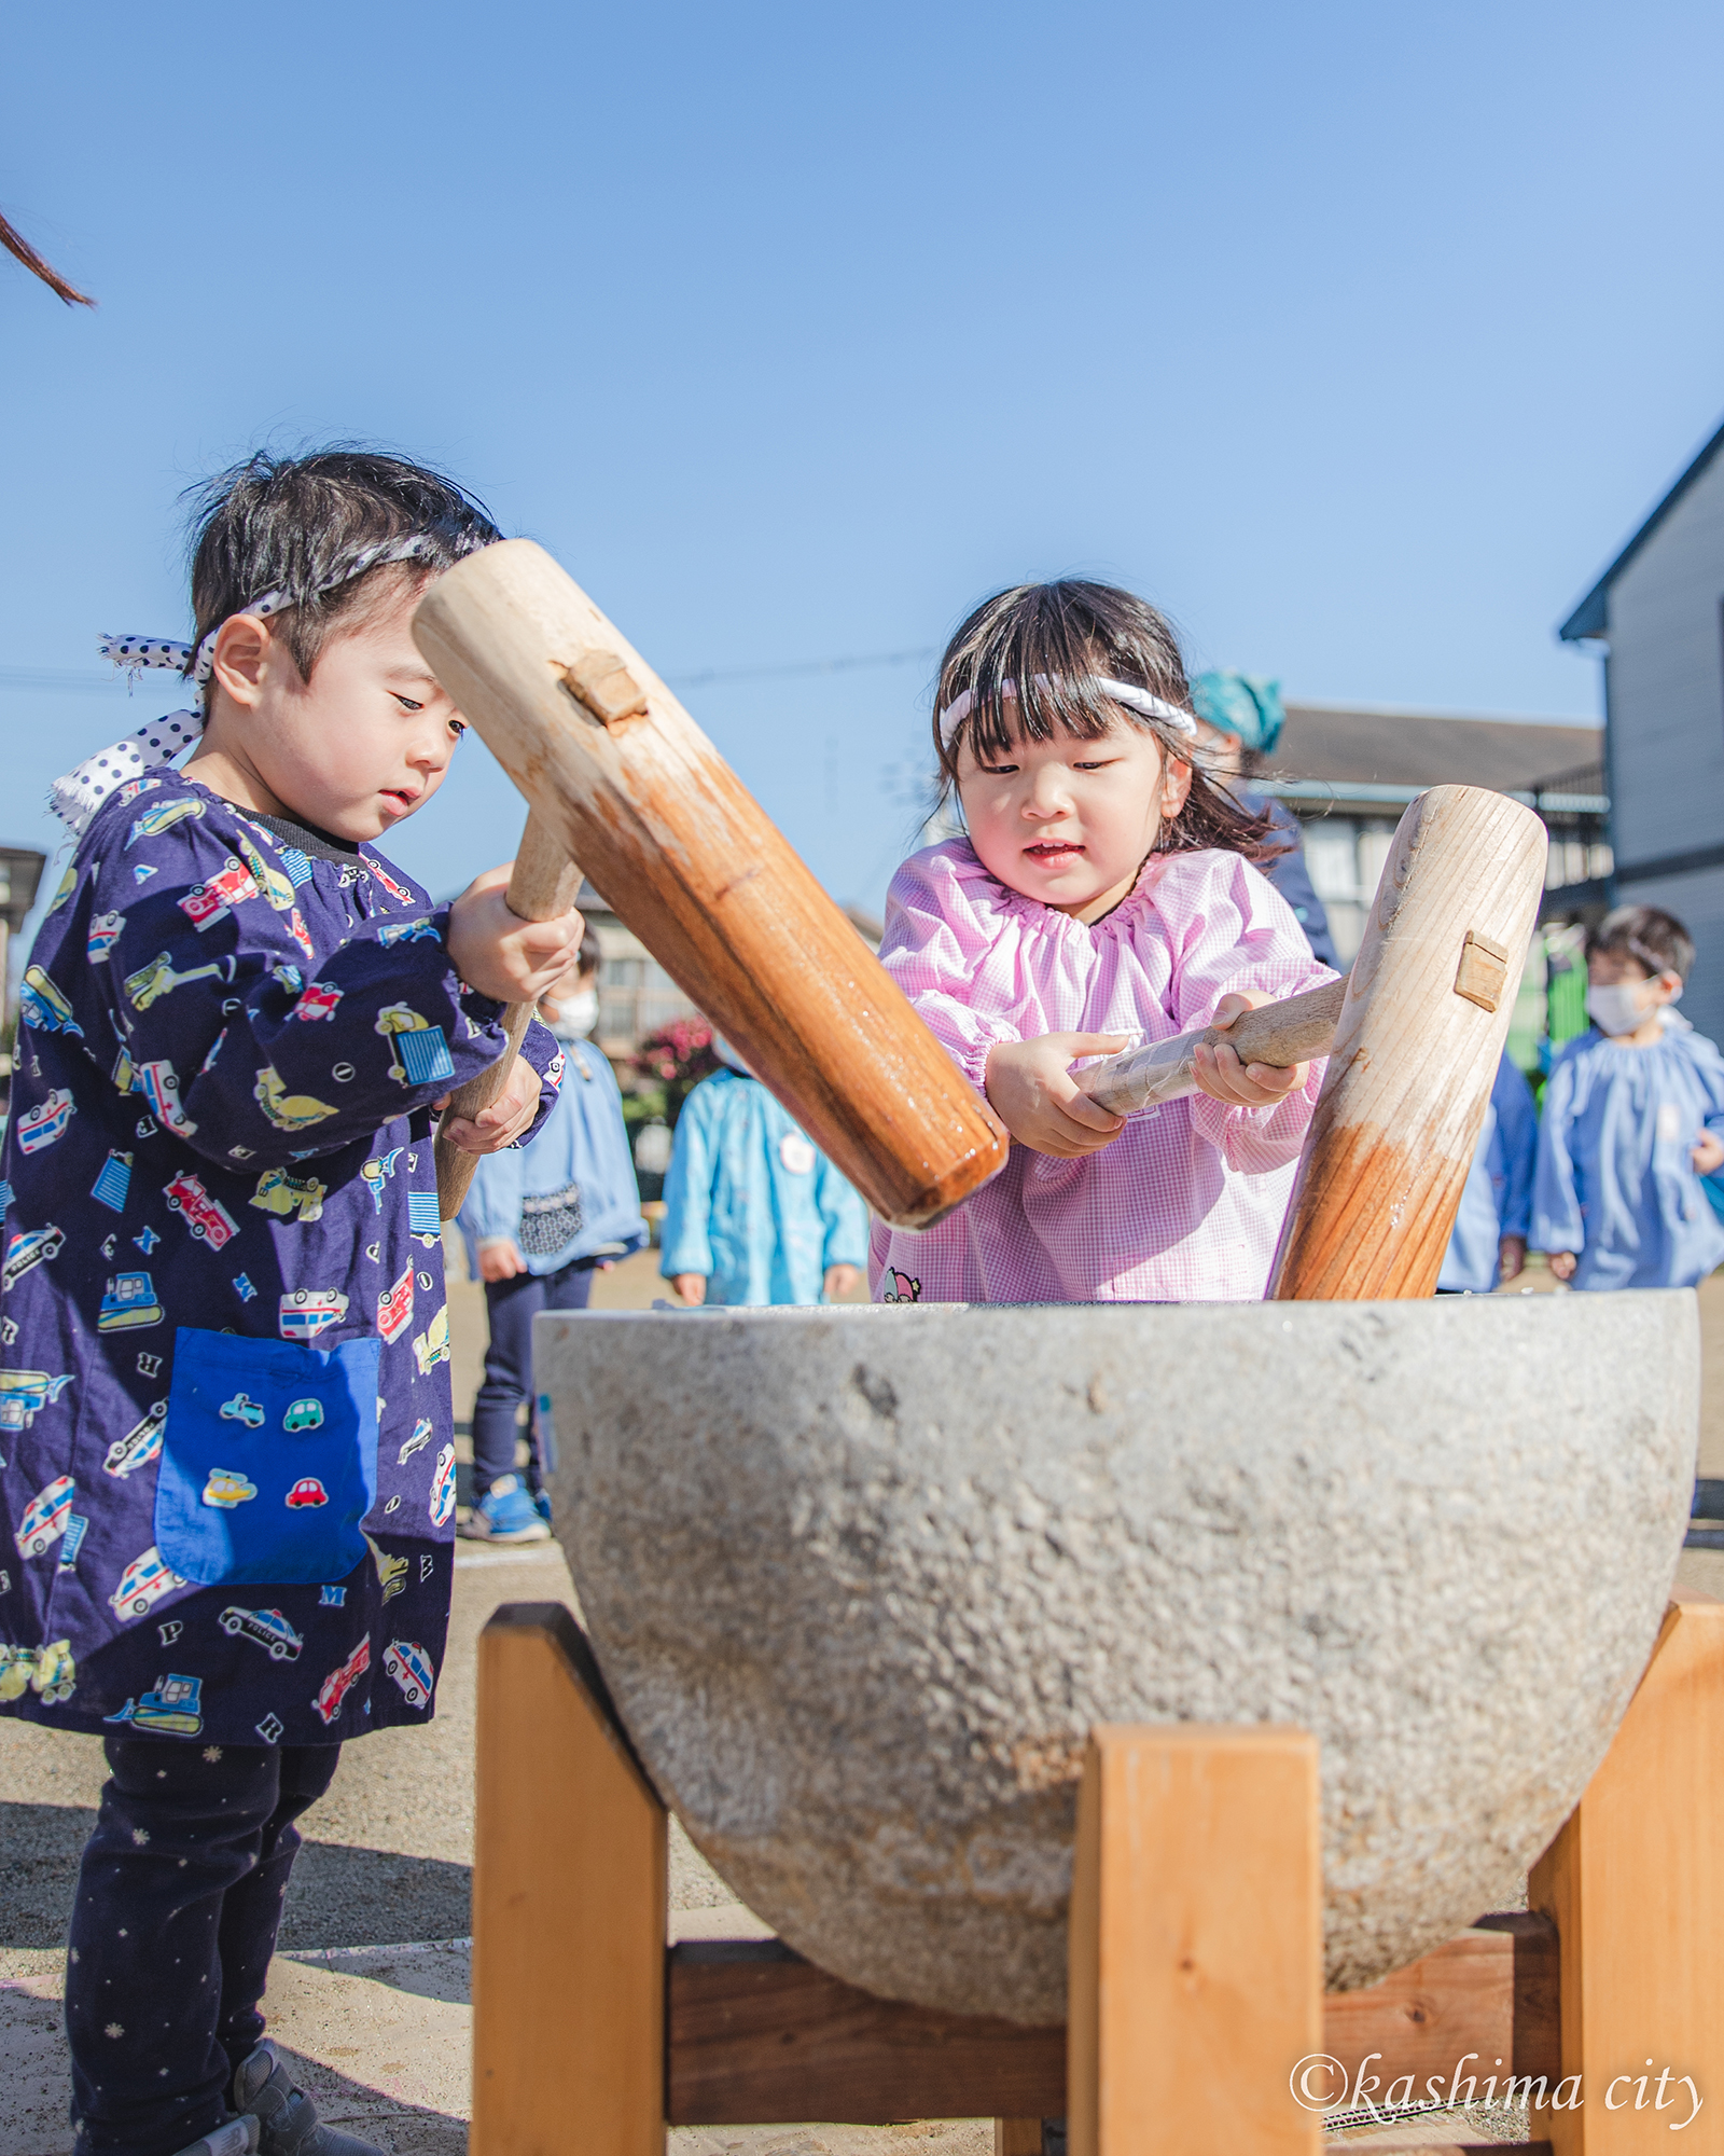
<svg viewBox="0 0 1724 2156">
<path fill-rule="evenodd" d="M 1321 987 L 1334 972 L 1310 955 L 1293 908 L 1267 875 L 1237 854 L 1211 854 L 1207 888 L 1192 893 L 1181 921 L 1172 996 L 1181 1033 L 1207 1026 L 1226 994 L 1254 990 L 1280 1000 Z M 1304 1145 L 1325 1063 L 1274 1108 L 1228 1108 L 1207 1093 L 1192 1097 L 1192 1130 L 1239 1175 L 1287 1166 Z"/>
</svg>

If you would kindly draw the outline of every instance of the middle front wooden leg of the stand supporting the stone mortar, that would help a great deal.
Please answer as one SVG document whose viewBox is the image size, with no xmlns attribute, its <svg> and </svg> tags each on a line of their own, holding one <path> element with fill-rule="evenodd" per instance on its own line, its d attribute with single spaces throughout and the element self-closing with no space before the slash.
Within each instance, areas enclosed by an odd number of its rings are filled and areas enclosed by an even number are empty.
<svg viewBox="0 0 1724 2156">
<path fill-rule="evenodd" d="M 1090 1731 L 1067 2044 L 1071 2156 L 1317 2156 L 1289 2087 L 1323 2050 L 1312 1736 Z"/>
</svg>

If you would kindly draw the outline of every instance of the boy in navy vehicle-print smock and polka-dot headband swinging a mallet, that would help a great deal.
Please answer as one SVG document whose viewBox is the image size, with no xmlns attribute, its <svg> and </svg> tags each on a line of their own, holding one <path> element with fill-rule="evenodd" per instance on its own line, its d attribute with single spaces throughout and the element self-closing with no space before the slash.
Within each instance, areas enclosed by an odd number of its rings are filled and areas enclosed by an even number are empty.
<svg viewBox="0 0 1724 2156">
<path fill-rule="evenodd" d="M 56 787 L 84 834 L 4 1145 L 0 1701 L 99 1733 L 112 1772 L 67 1962 L 80 2156 L 371 2152 L 256 2001 L 293 1820 L 343 1738 L 429 1714 L 442 1656 L 431 1112 L 580 940 L 517 921 L 502 869 L 433 910 L 371 849 L 461 733 L 414 604 L 496 537 L 390 457 L 254 457 L 205 507 L 196 653 L 123 647 L 183 662 L 203 714 Z M 450 1136 L 526 1136 L 556 1061 L 530 1028 Z"/>
</svg>

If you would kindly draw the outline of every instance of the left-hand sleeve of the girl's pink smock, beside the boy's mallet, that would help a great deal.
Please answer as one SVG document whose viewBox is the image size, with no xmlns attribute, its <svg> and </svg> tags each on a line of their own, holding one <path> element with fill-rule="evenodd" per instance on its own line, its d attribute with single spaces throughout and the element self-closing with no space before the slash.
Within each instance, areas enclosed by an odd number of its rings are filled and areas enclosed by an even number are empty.
<svg viewBox="0 0 1724 2156">
<path fill-rule="evenodd" d="M 976 871 L 981 873 L 981 871 Z M 929 847 L 892 877 L 879 959 L 946 1054 L 981 1093 L 987 1052 L 1024 1039 L 989 994 L 985 964 L 1000 923 L 965 888 L 963 862 Z"/>
</svg>

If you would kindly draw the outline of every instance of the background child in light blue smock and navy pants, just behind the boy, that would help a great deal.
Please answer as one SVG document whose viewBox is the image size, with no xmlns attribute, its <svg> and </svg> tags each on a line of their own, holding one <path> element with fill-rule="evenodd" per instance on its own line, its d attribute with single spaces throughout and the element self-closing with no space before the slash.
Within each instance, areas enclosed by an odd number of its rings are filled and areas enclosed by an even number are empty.
<svg viewBox="0 0 1724 2156">
<path fill-rule="evenodd" d="M 474 1169 L 461 1233 L 485 1283 L 491 1339 L 485 1382 L 472 1410 L 472 1488 L 461 1526 L 481 1542 L 543 1542 L 550 1498 L 532 1412 L 532 1319 L 539 1311 L 584 1311 L 593 1274 L 646 1246 L 640 1190 L 623 1125 L 616 1076 L 586 1035 L 599 1022 L 599 938 L 539 1000 L 562 1044 L 567 1067 L 556 1106 L 526 1149 L 491 1153 Z M 515 1473 L 517 1410 L 528 1404 L 528 1468 Z"/>
</svg>

